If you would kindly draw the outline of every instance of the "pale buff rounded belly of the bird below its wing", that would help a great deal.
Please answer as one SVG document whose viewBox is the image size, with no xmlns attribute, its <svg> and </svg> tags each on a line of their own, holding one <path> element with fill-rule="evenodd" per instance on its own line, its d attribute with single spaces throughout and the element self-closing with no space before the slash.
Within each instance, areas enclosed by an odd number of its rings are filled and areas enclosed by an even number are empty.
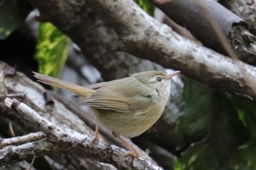
<svg viewBox="0 0 256 170">
<path fill-rule="evenodd" d="M 126 113 L 126 112 L 115 112 L 110 110 L 93 109 L 97 116 L 99 123 L 104 125 L 106 128 L 113 131 L 113 134 L 135 137 L 143 134 L 148 128 L 159 119 L 162 112 L 137 112 L 137 113 Z"/>
</svg>

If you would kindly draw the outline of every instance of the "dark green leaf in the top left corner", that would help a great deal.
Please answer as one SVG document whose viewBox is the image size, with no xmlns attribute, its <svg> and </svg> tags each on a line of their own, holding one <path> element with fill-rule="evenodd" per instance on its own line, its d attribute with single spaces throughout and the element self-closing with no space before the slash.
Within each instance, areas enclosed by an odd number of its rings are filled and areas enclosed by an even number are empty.
<svg viewBox="0 0 256 170">
<path fill-rule="evenodd" d="M 22 0 L 0 0 L 0 39 L 6 39 L 29 15 L 33 8 Z"/>
</svg>

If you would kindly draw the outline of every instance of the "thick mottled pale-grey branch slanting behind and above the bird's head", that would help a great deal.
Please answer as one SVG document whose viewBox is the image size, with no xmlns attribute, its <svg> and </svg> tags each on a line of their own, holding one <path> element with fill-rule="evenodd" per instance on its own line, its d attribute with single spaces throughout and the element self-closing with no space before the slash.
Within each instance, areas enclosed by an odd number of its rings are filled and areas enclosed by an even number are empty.
<svg viewBox="0 0 256 170">
<path fill-rule="evenodd" d="M 112 27 L 118 36 L 118 41 L 109 42 L 110 47 L 126 51 L 138 58 L 149 59 L 167 68 L 181 70 L 183 74 L 211 87 L 256 99 L 253 90 L 253 87 L 256 87 L 255 67 L 240 61 L 235 63 L 230 58 L 195 45 L 167 26 L 157 23 L 133 1 L 97 0 L 86 1 L 86 4 L 83 0 L 72 1 L 72 4 L 71 1 L 28 1 L 39 9 L 42 18 L 47 18 L 69 35 L 81 47 L 83 53 L 99 55 L 88 53 L 91 45 L 87 44 L 84 34 L 88 35 L 86 30 L 89 25 L 84 23 L 86 20 L 101 19 L 104 25 Z M 99 51 L 113 53 L 113 48 L 110 47 L 99 47 Z M 244 80 L 238 66 L 244 69 L 247 77 L 252 80 L 250 85 Z"/>
</svg>

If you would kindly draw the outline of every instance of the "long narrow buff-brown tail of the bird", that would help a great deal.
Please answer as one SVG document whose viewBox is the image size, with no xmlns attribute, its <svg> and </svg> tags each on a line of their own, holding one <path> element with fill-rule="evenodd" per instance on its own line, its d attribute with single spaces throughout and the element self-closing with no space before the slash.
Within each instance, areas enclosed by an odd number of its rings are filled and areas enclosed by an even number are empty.
<svg viewBox="0 0 256 170">
<path fill-rule="evenodd" d="M 72 93 L 76 93 L 79 96 L 82 96 L 84 98 L 89 98 L 92 93 L 94 93 L 94 90 L 91 90 L 89 88 L 83 88 L 79 85 L 72 84 L 70 82 L 66 82 L 64 80 L 59 80 L 44 74 L 39 74 L 37 72 L 33 72 L 34 77 L 37 78 L 38 82 L 42 82 L 46 85 L 52 85 L 57 88 L 62 88 L 64 90 L 69 90 Z"/>
</svg>

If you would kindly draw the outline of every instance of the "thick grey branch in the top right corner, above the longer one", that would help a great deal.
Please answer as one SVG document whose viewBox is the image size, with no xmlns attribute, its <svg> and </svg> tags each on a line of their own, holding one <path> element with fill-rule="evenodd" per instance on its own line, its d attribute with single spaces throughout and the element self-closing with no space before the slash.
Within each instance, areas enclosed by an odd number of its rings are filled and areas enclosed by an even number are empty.
<svg viewBox="0 0 256 170">
<path fill-rule="evenodd" d="M 173 0 L 170 3 L 157 5 L 157 7 L 181 26 L 189 29 L 200 42 L 203 42 L 203 45 L 219 53 L 227 54 L 225 45 L 219 41 L 219 38 L 229 39 L 238 58 L 255 66 L 256 37 L 250 34 L 244 20 L 222 7 L 217 1 Z M 207 12 L 203 8 L 207 8 Z M 210 15 L 212 19 L 206 15 Z M 224 36 L 216 34 L 216 28 L 211 24 L 213 20 L 221 28 Z"/>
</svg>

